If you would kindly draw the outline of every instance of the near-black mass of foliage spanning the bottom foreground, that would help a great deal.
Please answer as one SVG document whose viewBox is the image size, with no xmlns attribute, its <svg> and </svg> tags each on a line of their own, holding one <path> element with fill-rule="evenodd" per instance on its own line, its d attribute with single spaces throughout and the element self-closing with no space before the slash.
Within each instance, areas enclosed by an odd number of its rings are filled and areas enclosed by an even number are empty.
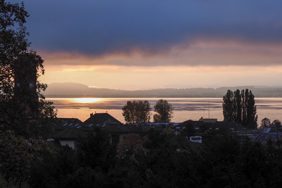
<svg viewBox="0 0 282 188">
<path fill-rule="evenodd" d="M 78 155 L 89 158 L 85 161 L 76 157 L 74 151 L 68 147 L 63 147 L 63 152 L 43 152 L 42 160 L 34 165 L 32 163 L 30 180 L 33 180 L 33 184 L 30 181 L 30 185 L 255 188 L 279 187 L 282 183 L 282 152 L 278 147 L 279 143 L 269 142 L 261 145 L 256 141 L 241 142 L 236 135 L 230 135 L 228 132 L 218 134 L 216 131 L 210 131 L 201 135 L 203 143 L 199 144 L 198 148 L 177 152 L 177 147 L 166 139 L 167 136 L 151 129 L 143 145 L 146 152 L 133 154 L 132 150 L 129 150 L 125 155 L 114 159 L 111 155 L 104 155 L 107 153 L 105 151 L 111 150 L 110 145 L 103 145 L 107 142 L 107 137 L 98 136 L 98 141 L 93 139 L 94 135 L 92 141 L 88 140 L 92 144 L 78 151 Z M 129 137 L 131 140 L 140 138 L 136 134 Z M 103 147 L 100 147 L 100 144 Z M 108 163 L 107 168 L 103 168 L 106 160 L 113 163 Z"/>
</svg>

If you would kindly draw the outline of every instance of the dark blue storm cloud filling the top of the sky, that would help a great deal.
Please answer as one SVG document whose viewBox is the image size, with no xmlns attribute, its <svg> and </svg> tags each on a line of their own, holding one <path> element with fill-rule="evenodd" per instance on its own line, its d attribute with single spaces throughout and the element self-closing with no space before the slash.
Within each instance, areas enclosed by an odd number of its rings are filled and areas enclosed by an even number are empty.
<svg viewBox="0 0 282 188">
<path fill-rule="evenodd" d="M 36 50 L 155 54 L 197 38 L 282 43 L 282 1 L 26 1 Z"/>
</svg>

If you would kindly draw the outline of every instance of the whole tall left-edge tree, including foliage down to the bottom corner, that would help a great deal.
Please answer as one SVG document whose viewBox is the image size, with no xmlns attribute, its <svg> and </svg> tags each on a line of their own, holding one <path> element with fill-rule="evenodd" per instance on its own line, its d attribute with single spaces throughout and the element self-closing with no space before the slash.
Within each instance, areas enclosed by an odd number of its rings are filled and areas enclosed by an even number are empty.
<svg viewBox="0 0 282 188">
<path fill-rule="evenodd" d="M 19 187 L 40 153 L 31 141 L 48 138 L 56 117 L 42 94 L 47 85 L 37 80 L 38 72 L 44 74 L 43 60 L 28 51 L 28 16 L 23 3 L 0 0 L 0 173 Z"/>
</svg>

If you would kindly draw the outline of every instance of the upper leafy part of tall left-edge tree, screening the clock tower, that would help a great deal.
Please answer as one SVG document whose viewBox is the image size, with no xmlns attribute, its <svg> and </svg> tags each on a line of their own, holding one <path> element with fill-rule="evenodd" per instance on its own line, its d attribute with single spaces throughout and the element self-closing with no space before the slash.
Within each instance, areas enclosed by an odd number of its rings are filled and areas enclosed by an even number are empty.
<svg viewBox="0 0 282 188">
<path fill-rule="evenodd" d="M 46 84 L 37 81 L 44 74 L 43 60 L 27 48 L 23 3 L 0 1 L 0 123 L 1 131 L 29 137 L 50 135 L 56 111 L 42 94 Z M 16 28 L 16 29 L 15 29 Z"/>
</svg>

